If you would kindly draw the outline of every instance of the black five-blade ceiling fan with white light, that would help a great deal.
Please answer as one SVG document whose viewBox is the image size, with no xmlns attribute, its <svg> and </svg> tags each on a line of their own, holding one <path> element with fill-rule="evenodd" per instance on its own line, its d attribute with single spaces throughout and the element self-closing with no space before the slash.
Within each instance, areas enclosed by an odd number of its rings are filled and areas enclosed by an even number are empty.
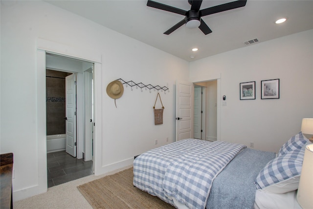
<svg viewBox="0 0 313 209">
<path fill-rule="evenodd" d="M 236 0 L 236 1 L 224 3 L 221 5 L 217 5 L 217 6 L 212 6 L 212 7 L 201 9 L 201 10 L 200 10 L 200 6 L 202 3 L 202 0 L 188 0 L 188 3 L 191 5 L 191 8 L 189 11 L 185 11 L 185 10 L 173 7 L 173 6 L 162 4 L 153 0 L 148 0 L 147 6 L 154 7 L 156 9 L 165 10 L 168 12 L 174 12 L 176 14 L 185 16 L 185 18 L 182 21 L 180 21 L 179 23 L 177 23 L 176 25 L 174 25 L 173 27 L 165 31 L 164 34 L 166 35 L 171 34 L 173 31 L 178 29 L 183 24 L 186 24 L 186 27 L 188 28 L 199 27 L 200 30 L 205 35 L 207 35 L 209 33 L 212 33 L 212 30 L 209 28 L 209 26 L 207 26 L 206 23 L 204 23 L 201 17 L 227 11 L 230 9 L 243 7 L 246 5 L 246 0 Z"/>
</svg>

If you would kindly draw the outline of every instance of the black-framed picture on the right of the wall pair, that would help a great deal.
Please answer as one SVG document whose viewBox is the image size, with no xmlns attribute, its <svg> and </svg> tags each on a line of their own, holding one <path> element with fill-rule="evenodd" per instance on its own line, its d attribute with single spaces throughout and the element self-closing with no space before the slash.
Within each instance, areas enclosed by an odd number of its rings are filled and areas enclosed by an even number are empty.
<svg viewBox="0 0 313 209">
<path fill-rule="evenodd" d="M 279 79 L 261 81 L 261 99 L 279 99 Z"/>
</svg>

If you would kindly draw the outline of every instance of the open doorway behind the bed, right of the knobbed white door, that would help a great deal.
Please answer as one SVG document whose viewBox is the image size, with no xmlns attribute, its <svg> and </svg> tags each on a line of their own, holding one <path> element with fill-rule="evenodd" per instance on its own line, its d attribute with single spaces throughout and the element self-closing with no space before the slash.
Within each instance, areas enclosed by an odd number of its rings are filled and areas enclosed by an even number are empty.
<svg viewBox="0 0 313 209">
<path fill-rule="evenodd" d="M 217 140 L 217 80 L 194 84 L 194 138 Z"/>
</svg>

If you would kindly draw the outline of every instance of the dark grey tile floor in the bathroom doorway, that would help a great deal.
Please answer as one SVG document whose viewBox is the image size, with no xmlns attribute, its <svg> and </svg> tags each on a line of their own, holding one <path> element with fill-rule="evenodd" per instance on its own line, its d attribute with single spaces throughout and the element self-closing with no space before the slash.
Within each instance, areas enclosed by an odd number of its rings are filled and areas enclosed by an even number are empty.
<svg viewBox="0 0 313 209">
<path fill-rule="evenodd" d="M 92 161 L 84 161 L 65 151 L 47 153 L 48 187 L 92 175 Z"/>
</svg>

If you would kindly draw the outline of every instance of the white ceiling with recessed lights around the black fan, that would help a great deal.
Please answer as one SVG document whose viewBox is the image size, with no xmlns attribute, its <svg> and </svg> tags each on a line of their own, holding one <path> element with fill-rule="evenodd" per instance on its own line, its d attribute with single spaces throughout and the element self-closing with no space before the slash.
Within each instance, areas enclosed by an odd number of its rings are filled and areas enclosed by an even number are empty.
<svg viewBox="0 0 313 209">
<path fill-rule="evenodd" d="M 190 10 L 187 0 L 155 0 Z M 232 0 L 230 0 L 232 1 Z M 230 2 L 203 0 L 201 9 Z M 125 34 L 186 61 L 194 61 L 240 47 L 258 39 L 268 41 L 313 29 L 313 0 L 247 0 L 246 6 L 202 17 L 213 31 L 204 35 L 199 28 L 185 25 L 170 35 L 167 29 L 184 16 L 148 7 L 147 0 L 46 0 L 93 22 Z M 287 22 L 275 24 L 278 18 Z M 254 43 L 252 45 L 255 45 Z M 198 47 L 193 52 L 191 49 Z M 191 56 L 195 56 L 191 58 Z"/>
</svg>

